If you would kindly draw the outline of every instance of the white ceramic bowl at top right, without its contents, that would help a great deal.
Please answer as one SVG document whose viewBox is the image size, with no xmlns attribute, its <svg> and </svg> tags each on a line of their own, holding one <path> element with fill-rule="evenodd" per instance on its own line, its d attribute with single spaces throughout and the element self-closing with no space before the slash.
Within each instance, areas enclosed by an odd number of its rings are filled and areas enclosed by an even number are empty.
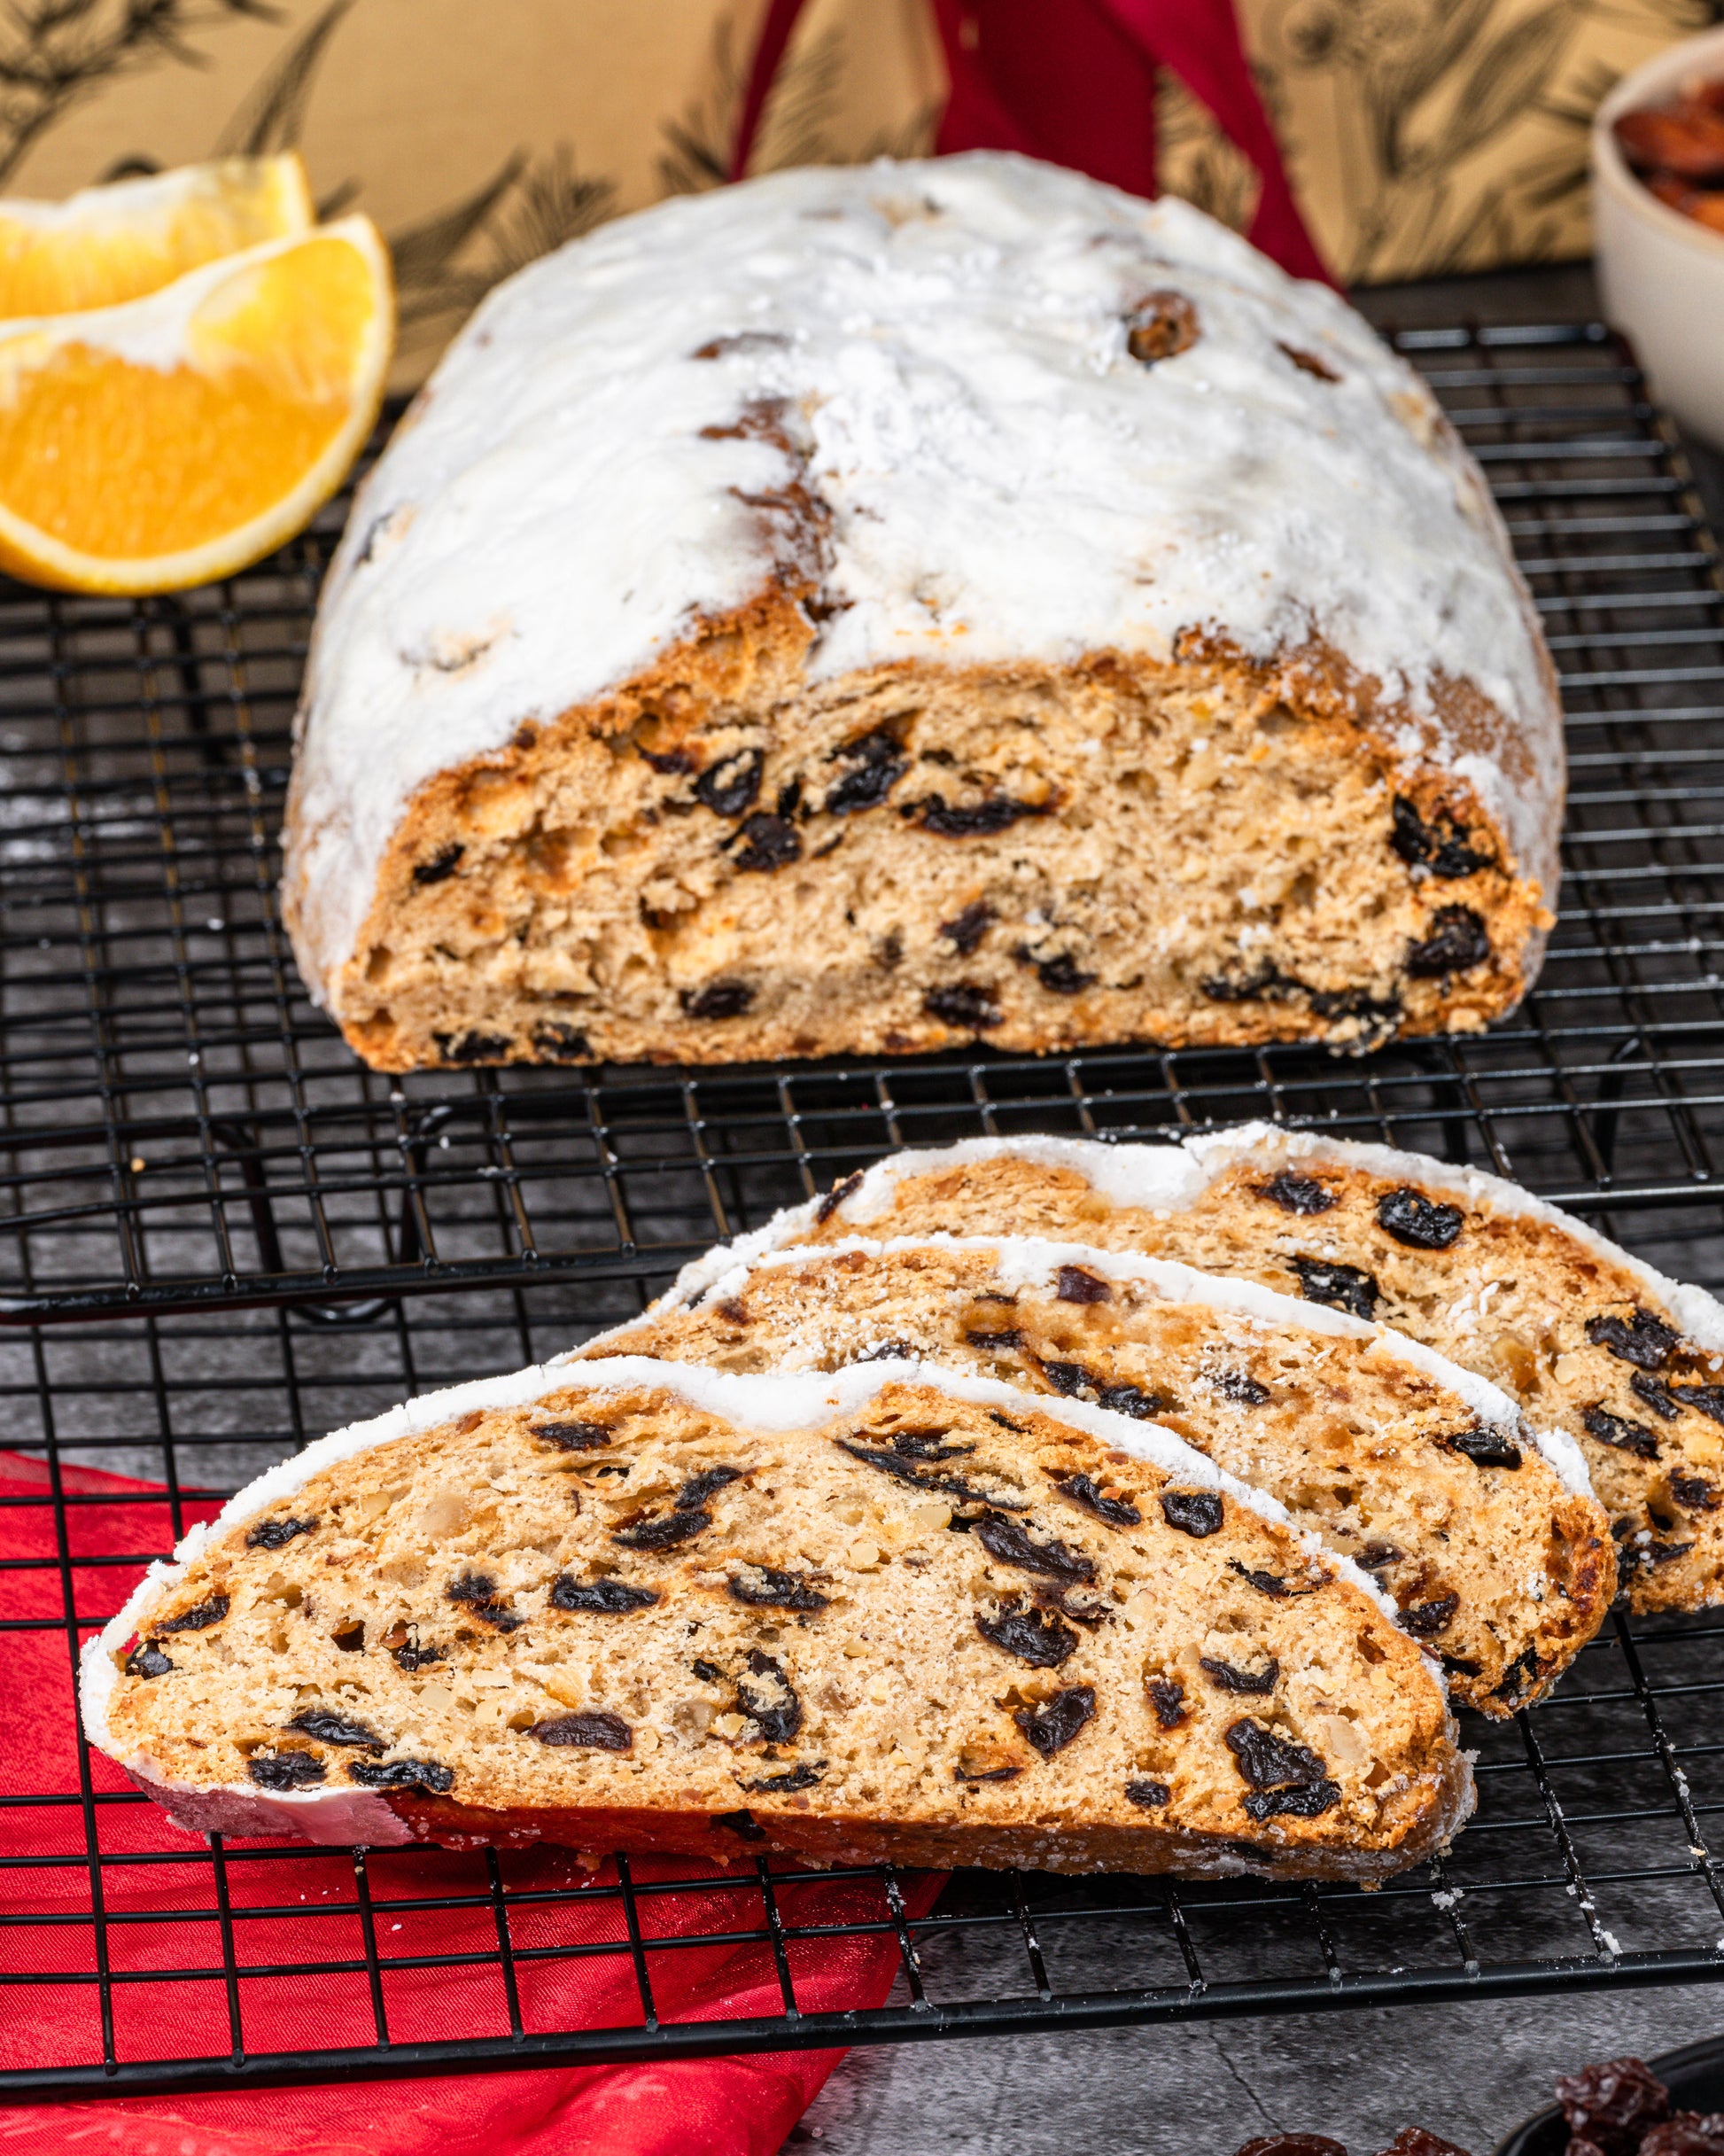
<svg viewBox="0 0 1724 2156">
<path fill-rule="evenodd" d="M 1605 319 L 1633 338 L 1659 403 L 1724 448 L 1724 233 L 1659 203 L 1616 149 L 1612 121 L 1724 78 L 1724 28 L 1623 75 L 1593 121 L 1593 244 Z"/>
</svg>

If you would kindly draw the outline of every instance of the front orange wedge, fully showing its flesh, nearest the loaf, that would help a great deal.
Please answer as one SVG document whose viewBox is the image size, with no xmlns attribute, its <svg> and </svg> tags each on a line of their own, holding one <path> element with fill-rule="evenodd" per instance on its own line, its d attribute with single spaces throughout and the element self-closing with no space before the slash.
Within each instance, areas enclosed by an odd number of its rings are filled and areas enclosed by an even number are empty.
<svg viewBox="0 0 1724 2156">
<path fill-rule="evenodd" d="M 371 218 L 125 306 L 0 323 L 0 569 L 142 593 L 259 561 L 347 476 L 392 343 Z"/>
</svg>

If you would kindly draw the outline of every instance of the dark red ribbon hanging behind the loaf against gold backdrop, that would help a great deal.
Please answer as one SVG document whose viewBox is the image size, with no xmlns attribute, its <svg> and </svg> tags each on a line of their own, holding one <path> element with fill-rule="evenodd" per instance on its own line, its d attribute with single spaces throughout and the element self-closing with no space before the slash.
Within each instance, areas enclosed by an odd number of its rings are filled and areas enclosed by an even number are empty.
<svg viewBox="0 0 1724 2156">
<path fill-rule="evenodd" d="M 806 0 L 769 0 L 743 93 L 741 179 Z M 1155 194 L 1155 69 L 1168 67 L 1256 166 L 1250 239 L 1293 276 L 1334 282 L 1306 231 L 1256 95 L 1233 0 L 933 0 L 950 97 L 937 149 L 1015 149 Z"/>
</svg>

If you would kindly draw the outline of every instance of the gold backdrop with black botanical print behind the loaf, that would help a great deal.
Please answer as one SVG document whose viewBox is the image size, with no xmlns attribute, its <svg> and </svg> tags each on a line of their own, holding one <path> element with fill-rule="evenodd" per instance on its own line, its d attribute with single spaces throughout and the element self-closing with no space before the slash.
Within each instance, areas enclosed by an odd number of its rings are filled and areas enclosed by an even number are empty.
<svg viewBox="0 0 1724 2156">
<path fill-rule="evenodd" d="M 4 0 L 0 188 L 58 196 L 231 149 L 304 151 L 401 280 L 401 379 L 534 254 L 718 185 L 765 0 Z M 1584 254 L 1586 123 L 1720 0 L 1239 0 L 1327 261 L 1381 282 Z M 812 0 L 754 168 L 927 149 L 927 0 Z M 1233 224 L 1254 175 L 1174 82 L 1164 183 Z"/>
</svg>

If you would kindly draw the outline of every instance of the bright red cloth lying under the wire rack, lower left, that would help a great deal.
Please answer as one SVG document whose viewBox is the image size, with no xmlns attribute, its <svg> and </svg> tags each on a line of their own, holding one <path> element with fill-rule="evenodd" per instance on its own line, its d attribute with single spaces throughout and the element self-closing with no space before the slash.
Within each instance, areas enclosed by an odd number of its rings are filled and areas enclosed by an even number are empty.
<svg viewBox="0 0 1724 2156">
<path fill-rule="evenodd" d="M 88 1468 L 65 1468 L 69 1539 L 56 1542 L 47 1473 L 0 1453 L 0 1619 L 47 1619 L 50 1628 L 4 1632 L 0 1686 L 0 1798 L 69 1794 L 69 1805 L 6 1805 L 6 1858 L 60 1856 L 52 1869 L 0 1871 L 6 1968 L 11 1973 L 91 1973 L 91 1876 L 84 1818 L 75 1802 L 78 1738 L 71 1649 L 62 1583 L 80 1617 L 119 1608 L 138 1576 L 134 1563 L 99 1563 L 166 1550 L 175 1524 L 166 1494 Z M 185 1524 L 215 1505 L 185 1505 Z M 41 1559 L 50 1565 L 39 1567 Z M 95 1630 L 80 1623 L 80 1639 Z M 91 1757 L 97 1798 L 129 1783 Z M 110 1917 L 114 2027 L 121 2059 L 211 2057 L 231 2050 L 215 1910 L 215 1861 L 200 1837 L 185 1835 L 147 1802 L 99 1802 L 101 1891 Z M 343 1850 L 284 1841 L 231 1843 L 226 1891 L 235 1915 L 239 1968 L 295 1962 L 362 1962 L 364 1938 L 353 1865 Z M 261 1852 L 261 1854 L 259 1854 Z M 112 1858 L 121 1858 L 114 1863 Z M 509 1921 L 517 1955 L 519 2007 L 528 2031 L 631 2027 L 640 2003 L 627 1953 L 532 1960 L 534 1947 L 625 1940 L 621 1895 L 610 1863 L 588 1876 L 575 1852 L 537 1848 L 500 1856 L 511 1891 Z M 397 2042 L 506 2035 L 509 2003 L 496 1962 L 496 1910 L 433 1908 L 435 1897 L 485 1895 L 483 1854 L 377 1850 L 369 1861 L 384 2001 Z M 707 1884 L 655 1895 L 655 1880 Z M 640 1858 L 634 1880 L 649 1943 L 653 1999 L 662 2022 L 700 2022 L 782 2012 L 771 1951 L 759 1945 L 703 1945 L 651 1951 L 653 1940 L 756 1930 L 759 1880 L 685 1861 Z M 905 1908 L 920 1917 L 940 1876 L 905 1880 Z M 526 1902 L 517 1893 L 575 1891 L 575 1899 Z M 784 1884 L 776 1899 L 787 1927 L 881 1923 L 884 1891 L 871 1882 Z M 390 1906 L 403 1904 L 403 1906 Z M 248 1910 L 282 1915 L 248 1919 Z M 19 1921 L 28 1919 L 28 1921 Z M 440 1968 L 401 1968 L 407 1955 L 472 1955 Z M 795 1996 L 804 2012 L 879 2005 L 899 1966 L 890 1930 L 860 1938 L 791 1940 Z M 127 1973 L 149 1981 L 123 1981 Z M 168 1979 L 162 1971 L 213 1971 Z M 0 2016 L 0 2068 L 101 2059 L 95 1984 L 9 1988 Z M 256 1975 L 239 1984 L 241 2029 L 252 2053 L 375 2044 L 366 1973 Z M 259 2089 L 172 2098 L 101 2098 L 78 2104 L 0 2109 L 0 2156 L 13 2150 L 101 2152 L 127 2156 L 550 2156 L 601 2147 L 614 2156 L 771 2156 L 843 2057 L 838 2050 L 765 2053 L 668 2061 L 664 2065 L 534 2068 L 416 2081 L 369 2081 L 319 2089 Z"/>
</svg>

